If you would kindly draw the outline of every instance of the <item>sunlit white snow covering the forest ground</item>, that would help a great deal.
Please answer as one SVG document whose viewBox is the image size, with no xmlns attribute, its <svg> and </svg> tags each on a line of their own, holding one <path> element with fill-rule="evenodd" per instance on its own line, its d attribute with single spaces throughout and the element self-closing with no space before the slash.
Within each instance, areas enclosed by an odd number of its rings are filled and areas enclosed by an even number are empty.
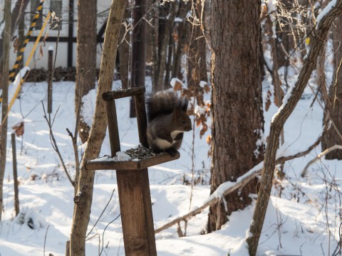
<svg viewBox="0 0 342 256">
<path fill-rule="evenodd" d="M 292 70 L 290 74 L 288 80 L 294 82 L 296 72 Z M 265 92 L 269 83 L 270 78 L 265 78 Z M 150 85 L 148 79 L 147 85 Z M 54 83 L 52 114 L 53 133 L 71 174 L 75 160 L 71 137 L 66 128 L 73 131 L 75 126 L 74 86 L 73 82 Z M 113 87 L 119 86 L 120 82 L 115 81 Z M 317 102 L 310 107 L 313 97 L 310 97 L 312 94 L 309 89 L 305 95 L 286 122 L 286 144 L 279 149 L 283 154 L 295 154 L 307 149 L 321 134 L 323 110 Z M 21 214 L 20 218 L 14 218 L 10 128 L 4 212 L 0 223 L 0 255 L 65 255 L 73 216 L 73 188 L 51 146 L 41 103 L 46 105 L 46 99 L 46 82 L 25 83 L 20 99 L 16 100 L 9 113 L 9 127 L 21 121 L 25 124 L 24 136 L 16 138 Z M 91 112 L 94 99 L 95 90 L 83 99 L 88 107 L 87 113 Z M 135 119 L 128 117 L 128 99 L 118 100 L 117 111 L 121 149 L 124 151 L 138 144 L 138 132 Z M 271 105 L 270 110 L 264 113 L 266 135 L 275 112 L 276 107 Z M 88 118 L 91 118 L 91 114 L 88 114 Z M 205 137 L 199 139 L 198 129 L 195 129 L 193 173 L 195 179 L 202 177 L 203 183 L 199 182 L 192 189 L 184 182 L 192 178 L 192 144 L 192 132 L 187 132 L 180 159 L 149 169 L 155 228 L 177 215 L 187 213 L 190 208 L 200 206 L 209 197 L 209 147 Z M 82 150 L 80 144 L 80 152 Z M 309 168 L 306 178 L 300 176 L 306 163 L 320 151 L 321 147 L 318 146 L 311 154 L 286 162 L 284 180 L 276 179 L 273 186 L 257 255 L 333 255 L 338 246 L 342 216 L 341 161 L 322 159 Z M 105 138 L 100 156 L 105 154 L 110 154 L 108 137 Z M 105 208 L 108 201 L 108 207 Z M 222 230 L 207 235 L 200 233 L 206 228 L 208 209 L 188 221 L 186 237 L 178 237 L 176 226 L 157 233 L 157 254 L 248 255 L 246 238 L 254 206 L 255 200 L 252 206 L 229 216 L 229 222 Z M 103 210 L 102 217 L 93 228 Z M 100 252 L 102 255 L 125 255 L 120 217 L 117 218 L 119 213 L 115 171 L 97 171 L 89 223 L 89 230 L 93 230 L 86 242 L 87 255 L 99 255 Z M 29 228 L 28 223 L 35 229 Z M 184 233 L 184 223 L 181 225 Z"/>
</svg>

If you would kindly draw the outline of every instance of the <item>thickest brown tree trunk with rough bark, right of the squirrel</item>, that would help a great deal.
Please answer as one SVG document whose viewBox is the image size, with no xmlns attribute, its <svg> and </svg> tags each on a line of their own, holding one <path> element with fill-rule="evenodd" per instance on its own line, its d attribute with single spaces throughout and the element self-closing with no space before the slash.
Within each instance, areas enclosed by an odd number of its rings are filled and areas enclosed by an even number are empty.
<svg viewBox="0 0 342 256">
<path fill-rule="evenodd" d="M 258 146 L 264 129 L 259 14 L 260 1 L 212 1 L 211 193 L 252 169 L 264 153 Z M 211 206 L 208 232 L 249 205 L 249 193 L 257 193 L 255 180 Z"/>
</svg>

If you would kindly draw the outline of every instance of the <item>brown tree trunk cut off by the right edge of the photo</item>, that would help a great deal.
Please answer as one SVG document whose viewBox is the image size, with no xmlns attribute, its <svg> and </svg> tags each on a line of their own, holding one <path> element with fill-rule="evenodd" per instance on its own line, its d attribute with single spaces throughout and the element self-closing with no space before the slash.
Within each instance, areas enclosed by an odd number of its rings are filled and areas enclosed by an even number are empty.
<svg viewBox="0 0 342 256">
<path fill-rule="evenodd" d="M 334 22 L 333 31 L 333 82 L 329 89 L 329 97 L 326 100 L 326 110 L 324 111 L 324 121 L 328 128 L 323 133 L 322 151 L 335 144 L 342 144 L 342 139 L 338 132 L 342 133 L 342 16 Z M 330 120 L 334 125 L 329 124 Z M 338 132 L 336 132 L 338 129 Z M 326 154 L 326 159 L 342 159 L 342 150 L 331 151 Z"/>
</svg>

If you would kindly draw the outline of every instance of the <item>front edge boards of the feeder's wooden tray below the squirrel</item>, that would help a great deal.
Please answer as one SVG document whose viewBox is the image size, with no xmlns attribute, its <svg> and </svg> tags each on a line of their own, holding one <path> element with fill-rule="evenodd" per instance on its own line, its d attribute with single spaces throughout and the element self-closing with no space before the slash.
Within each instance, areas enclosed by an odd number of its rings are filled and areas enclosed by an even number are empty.
<svg viewBox="0 0 342 256">
<path fill-rule="evenodd" d="M 180 158 L 180 153 L 177 152 L 175 157 L 170 154 L 162 153 L 157 156 L 152 156 L 147 159 L 131 160 L 131 161 L 96 161 L 91 160 L 86 162 L 87 170 L 141 170 L 157 164 L 162 164 L 167 161 L 172 161 Z"/>
</svg>

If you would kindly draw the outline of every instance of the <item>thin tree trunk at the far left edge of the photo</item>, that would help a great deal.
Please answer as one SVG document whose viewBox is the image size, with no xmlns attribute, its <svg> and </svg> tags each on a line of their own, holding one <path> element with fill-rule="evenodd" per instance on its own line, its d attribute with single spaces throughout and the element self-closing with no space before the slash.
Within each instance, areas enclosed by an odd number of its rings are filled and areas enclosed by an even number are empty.
<svg viewBox="0 0 342 256">
<path fill-rule="evenodd" d="M 4 175 L 6 169 L 6 146 L 7 146 L 7 117 L 9 113 L 9 50 L 11 48 L 11 1 L 6 0 L 4 6 L 4 58 L 2 61 L 2 108 L 1 108 L 1 131 L 0 131 L 0 220 L 4 208 Z"/>
</svg>

